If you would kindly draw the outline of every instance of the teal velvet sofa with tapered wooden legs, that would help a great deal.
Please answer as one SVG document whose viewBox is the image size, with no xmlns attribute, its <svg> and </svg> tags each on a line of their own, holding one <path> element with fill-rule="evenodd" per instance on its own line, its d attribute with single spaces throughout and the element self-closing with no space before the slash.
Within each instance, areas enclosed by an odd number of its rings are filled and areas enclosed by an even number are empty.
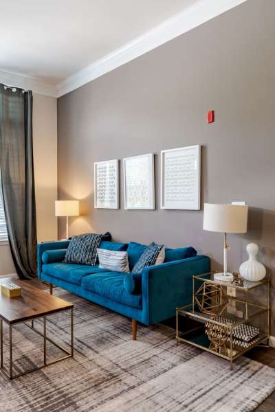
<svg viewBox="0 0 275 412">
<path fill-rule="evenodd" d="M 164 263 L 148 266 L 142 275 L 106 271 L 96 266 L 63 263 L 69 240 L 38 244 L 38 277 L 96 304 L 132 319 L 133 339 L 137 321 L 152 325 L 175 316 L 175 309 L 192 301 L 192 275 L 209 271 L 209 258 L 192 247 L 166 249 Z M 130 270 L 146 245 L 102 240 L 102 249 L 127 251 Z"/>
</svg>

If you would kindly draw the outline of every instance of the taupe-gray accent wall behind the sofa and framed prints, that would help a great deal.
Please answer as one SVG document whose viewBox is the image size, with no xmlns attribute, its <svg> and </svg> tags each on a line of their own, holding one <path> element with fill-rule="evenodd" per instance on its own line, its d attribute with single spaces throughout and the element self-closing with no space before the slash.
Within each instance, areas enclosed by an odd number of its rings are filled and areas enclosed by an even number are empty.
<svg viewBox="0 0 275 412">
<path fill-rule="evenodd" d="M 220 266 L 222 236 L 202 230 L 203 211 L 159 209 L 159 151 L 201 144 L 202 205 L 250 205 L 248 233 L 229 237 L 230 268 L 247 259 L 248 242 L 258 243 L 274 299 L 274 15 L 273 0 L 250 0 L 58 99 L 58 196 L 83 199 L 86 208 L 72 233 L 192 244 Z M 216 121 L 206 124 L 211 109 Z M 121 209 L 94 209 L 94 161 L 148 152 L 156 210 L 123 209 L 122 173 Z"/>
</svg>

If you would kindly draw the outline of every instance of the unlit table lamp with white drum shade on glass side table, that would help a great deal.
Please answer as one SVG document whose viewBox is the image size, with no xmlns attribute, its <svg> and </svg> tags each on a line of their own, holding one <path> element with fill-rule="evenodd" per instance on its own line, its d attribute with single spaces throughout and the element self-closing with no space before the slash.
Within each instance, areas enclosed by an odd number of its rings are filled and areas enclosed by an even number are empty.
<svg viewBox="0 0 275 412">
<path fill-rule="evenodd" d="M 203 229 L 223 233 L 223 273 L 215 273 L 214 280 L 231 281 L 228 273 L 228 243 L 226 233 L 245 233 L 248 226 L 247 205 L 215 205 L 204 203 Z"/>
</svg>

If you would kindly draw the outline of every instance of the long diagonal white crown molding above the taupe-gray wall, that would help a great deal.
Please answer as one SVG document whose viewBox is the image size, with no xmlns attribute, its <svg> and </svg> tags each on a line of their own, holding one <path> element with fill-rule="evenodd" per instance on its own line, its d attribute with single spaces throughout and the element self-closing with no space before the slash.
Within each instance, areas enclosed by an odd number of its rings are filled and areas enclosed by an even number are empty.
<svg viewBox="0 0 275 412">
<path fill-rule="evenodd" d="M 164 21 L 164 23 L 154 27 L 153 30 L 135 38 L 130 43 L 126 43 L 126 45 L 58 83 L 56 86 L 57 97 L 59 98 L 74 89 L 78 89 L 83 84 L 91 82 L 91 80 L 99 78 L 126 62 L 150 52 L 167 41 L 192 30 L 245 1 L 248 0 L 200 0 L 199 3 Z"/>
</svg>

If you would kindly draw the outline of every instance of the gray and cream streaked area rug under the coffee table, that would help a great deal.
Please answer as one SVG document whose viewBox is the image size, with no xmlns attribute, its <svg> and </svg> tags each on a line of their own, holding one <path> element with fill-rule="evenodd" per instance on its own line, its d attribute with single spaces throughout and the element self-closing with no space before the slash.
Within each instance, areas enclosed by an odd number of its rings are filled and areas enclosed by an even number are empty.
<svg viewBox="0 0 275 412">
<path fill-rule="evenodd" d="M 175 331 L 164 325 L 139 325 L 134 342 L 129 319 L 65 290 L 54 293 L 75 304 L 75 356 L 12 382 L 0 374 L 1 412 L 249 412 L 275 389 L 270 367 L 240 358 L 230 371 L 217 356 L 177 347 Z M 66 343 L 68 314 L 48 317 L 47 328 Z M 17 326 L 16 371 L 41 363 L 42 347 L 40 336 Z M 48 350 L 50 357 L 60 355 L 51 344 Z"/>
</svg>

